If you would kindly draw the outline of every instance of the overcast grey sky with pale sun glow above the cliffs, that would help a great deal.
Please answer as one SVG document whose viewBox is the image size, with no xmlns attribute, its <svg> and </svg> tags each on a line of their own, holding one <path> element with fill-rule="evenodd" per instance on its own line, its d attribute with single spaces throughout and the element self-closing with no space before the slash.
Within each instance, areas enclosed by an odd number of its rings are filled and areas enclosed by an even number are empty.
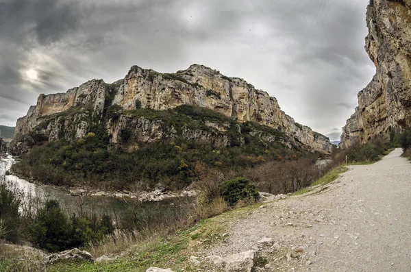
<svg viewBox="0 0 411 272">
<path fill-rule="evenodd" d="M 277 97 L 295 121 L 338 140 L 375 67 L 369 0 L 0 0 L 0 124 L 40 93 L 114 82 L 136 64 L 204 64 Z"/>
</svg>

